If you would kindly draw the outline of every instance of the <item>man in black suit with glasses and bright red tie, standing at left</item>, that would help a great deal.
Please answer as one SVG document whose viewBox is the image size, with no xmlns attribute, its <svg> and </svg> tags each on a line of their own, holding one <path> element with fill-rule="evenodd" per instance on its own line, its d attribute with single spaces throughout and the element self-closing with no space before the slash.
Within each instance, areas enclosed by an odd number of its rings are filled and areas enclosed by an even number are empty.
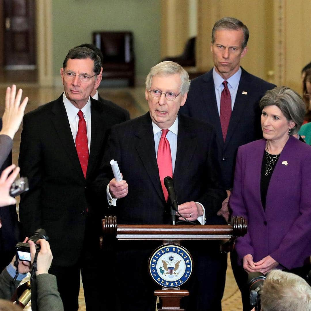
<svg viewBox="0 0 311 311">
<path fill-rule="evenodd" d="M 54 256 L 50 272 L 65 310 L 78 309 L 80 270 L 86 310 L 105 309 L 98 247 L 102 202 L 89 188 L 110 128 L 125 115 L 90 97 L 100 71 L 92 50 L 70 50 L 60 70 L 65 92 L 26 114 L 21 134 L 19 164 L 30 186 L 21 197 L 21 230 L 27 236 L 46 230 Z"/>
</svg>

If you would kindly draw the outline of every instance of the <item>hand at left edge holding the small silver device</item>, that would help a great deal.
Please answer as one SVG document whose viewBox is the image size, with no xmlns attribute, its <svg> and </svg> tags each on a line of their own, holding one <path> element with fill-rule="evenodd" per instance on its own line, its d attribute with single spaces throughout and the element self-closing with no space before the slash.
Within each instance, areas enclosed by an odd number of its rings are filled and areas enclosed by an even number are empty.
<svg viewBox="0 0 311 311">
<path fill-rule="evenodd" d="M 11 171 L 13 170 L 12 174 L 8 176 Z M 0 176 L 0 207 L 12 205 L 16 203 L 16 199 L 10 196 L 10 188 L 12 183 L 16 179 L 18 173 L 20 171 L 19 167 L 16 167 L 15 164 L 8 166 L 6 169 L 3 170 Z M 1 228 L 1 224 L 0 224 Z"/>
</svg>

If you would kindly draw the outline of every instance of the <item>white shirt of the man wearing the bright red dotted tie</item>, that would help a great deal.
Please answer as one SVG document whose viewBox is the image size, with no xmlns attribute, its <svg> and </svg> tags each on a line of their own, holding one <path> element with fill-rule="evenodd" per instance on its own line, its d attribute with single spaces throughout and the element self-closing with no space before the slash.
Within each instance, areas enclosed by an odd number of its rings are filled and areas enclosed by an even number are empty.
<svg viewBox="0 0 311 311">
<path fill-rule="evenodd" d="M 79 117 L 78 112 L 80 109 L 75 107 L 66 97 L 66 94 L 64 92 L 63 94 L 63 102 L 67 113 L 67 118 L 69 121 L 70 129 L 72 132 L 73 141 L 76 145 L 76 136 L 78 132 L 78 126 L 79 126 Z M 91 147 L 91 97 L 89 97 L 89 100 L 87 101 L 86 105 L 81 109 L 83 112 L 83 117 L 86 122 L 86 132 L 87 132 L 87 143 L 89 146 L 89 153 L 90 153 L 90 147 Z"/>
</svg>

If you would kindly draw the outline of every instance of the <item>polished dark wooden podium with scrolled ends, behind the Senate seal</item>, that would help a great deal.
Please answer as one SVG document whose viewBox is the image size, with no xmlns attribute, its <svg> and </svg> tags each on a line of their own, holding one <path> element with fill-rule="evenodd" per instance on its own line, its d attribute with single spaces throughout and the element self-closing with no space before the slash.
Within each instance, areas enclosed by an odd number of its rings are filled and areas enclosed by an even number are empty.
<svg viewBox="0 0 311 311">
<path fill-rule="evenodd" d="M 236 238 L 246 233 L 247 221 L 239 216 L 232 217 L 228 225 L 118 225 L 116 216 L 106 216 L 102 220 L 100 247 L 116 239 L 161 240 L 163 246 L 171 243 L 180 245 L 182 240 L 221 240 L 221 252 L 228 253 L 233 250 Z M 159 311 L 183 311 L 180 299 L 188 296 L 189 292 L 163 286 L 154 294 L 160 298 Z"/>
</svg>

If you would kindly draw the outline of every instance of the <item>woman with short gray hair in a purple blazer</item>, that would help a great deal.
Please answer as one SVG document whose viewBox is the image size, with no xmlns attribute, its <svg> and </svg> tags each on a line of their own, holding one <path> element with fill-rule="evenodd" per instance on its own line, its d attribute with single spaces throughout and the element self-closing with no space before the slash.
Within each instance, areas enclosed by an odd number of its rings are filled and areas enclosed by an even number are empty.
<svg viewBox="0 0 311 311">
<path fill-rule="evenodd" d="M 238 262 L 247 273 L 266 274 L 276 268 L 306 277 L 311 255 L 311 146 L 292 136 L 303 123 L 304 103 L 295 91 L 280 86 L 267 91 L 260 108 L 264 139 L 239 147 L 230 196 L 233 216 L 248 220 L 248 233 L 235 244 Z"/>
</svg>

